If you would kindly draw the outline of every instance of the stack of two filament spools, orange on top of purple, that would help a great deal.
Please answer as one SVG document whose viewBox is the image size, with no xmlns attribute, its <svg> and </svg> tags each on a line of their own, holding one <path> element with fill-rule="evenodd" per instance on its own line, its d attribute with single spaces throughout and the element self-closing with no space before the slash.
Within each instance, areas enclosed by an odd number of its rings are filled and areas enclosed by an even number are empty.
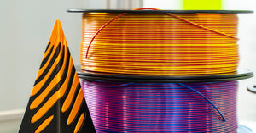
<svg viewBox="0 0 256 133">
<path fill-rule="evenodd" d="M 237 13 L 83 12 L 84 97 L 97 132 L 236 132 Z"/>
</svg>

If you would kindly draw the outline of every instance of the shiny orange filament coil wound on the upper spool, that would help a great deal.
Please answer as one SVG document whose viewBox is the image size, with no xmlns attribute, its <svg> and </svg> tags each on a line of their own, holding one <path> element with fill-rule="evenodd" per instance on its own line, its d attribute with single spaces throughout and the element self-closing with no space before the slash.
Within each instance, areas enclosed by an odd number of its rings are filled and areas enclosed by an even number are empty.
<svg viewBox="0 0 256 133">
<path fill-rule="evenodd" d="M 235 72 L 237 21 L 237 14 L 84 13 L 81 69 L 130 75 Z"/>
</svg>

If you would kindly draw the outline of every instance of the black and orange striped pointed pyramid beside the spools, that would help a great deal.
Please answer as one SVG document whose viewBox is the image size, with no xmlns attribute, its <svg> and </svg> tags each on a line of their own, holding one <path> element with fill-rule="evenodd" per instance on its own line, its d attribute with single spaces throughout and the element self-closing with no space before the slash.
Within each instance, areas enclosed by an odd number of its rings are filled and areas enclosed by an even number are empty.
<svg viewBox="0 0 256 133">
<path fill-rule="evenodd" d="M 79 77 L 56 20 L 19 133 L 96 132 Z"/>
</svg>

